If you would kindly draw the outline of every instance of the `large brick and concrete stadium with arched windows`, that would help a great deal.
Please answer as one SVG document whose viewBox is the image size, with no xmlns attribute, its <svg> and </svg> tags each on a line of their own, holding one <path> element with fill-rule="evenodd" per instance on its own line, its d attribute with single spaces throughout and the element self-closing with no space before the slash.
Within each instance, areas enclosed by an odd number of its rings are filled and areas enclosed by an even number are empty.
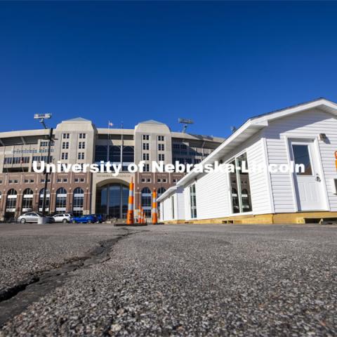
<svg viewBox="0 0 337 337">
<path fill-rule="evenodd" d="M 90 164 L 122 163 L 119 176 L 112 173 L 52 173 L 48 179 L 48 213 L 103 213 L 126 218 L 128 183 L 135 182 L 135 208 L 142 204 L 151 214 L 151 191 L 160 195 L 183 173 L 152 173 L 152 161 L 199 163 L 223 138 L 171 132 L 158 121 L 144 121 L 134 129 L 96 128 L 87 119 L 62 121 L 53 131 L 51 162 Z M 48 130 L 0 133 L 0 218 L 41 211 L 44 174 L 34 173 L 33 161 L 46 161 Z M 129 173 L 130 163 L 144 160 L 143 173 Z"/>
</svg>

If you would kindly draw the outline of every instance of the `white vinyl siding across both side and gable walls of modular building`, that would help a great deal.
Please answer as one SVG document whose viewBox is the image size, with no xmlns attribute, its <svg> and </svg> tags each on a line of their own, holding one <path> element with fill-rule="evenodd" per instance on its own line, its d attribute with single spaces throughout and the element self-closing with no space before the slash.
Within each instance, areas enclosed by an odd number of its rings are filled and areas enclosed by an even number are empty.
<svg viewBox="0 0 337 337">
<path fill-rule="evenodd" d="M 319 133 L 326 140 L 319 140 Z M 322 161 L 322 187 L 327 194 L 327 209 L 337 211 L 337 195 L 333 179 L 337 179 L 334 153 L 337 150 L 337 119 L 317 108 L 298 112 L 288 117 L 269 121 L 261 131 L 235 147 L 222 158 L 224 163 L 246 152 L 248 164 L 289 164 L 289 139 L 315 140 Z M 318 154 L 317 154 L 318 155 Z M 317 158 L 319 161 L 319 158 Z M 233 216 L 228 174 L 212 172 L 199 174 L 183 187 L 185 219 L 191 219 L 190 185 L 195 184 L 197 194 L 197 219 Z M 250 172 L 251 204 L 253 214 L 292 213 L 297 211 L 292 173 Z M 169 199 L 171 201 L 171 199 Z M 169 205 L 169 204 L 168 204 Z M 171 209 L 171 205 L 167 207 Z M 244 213 L 243 213 L 244 214 Z M 166 220 L 166 219 L 164 219 Z"/>
</svg>

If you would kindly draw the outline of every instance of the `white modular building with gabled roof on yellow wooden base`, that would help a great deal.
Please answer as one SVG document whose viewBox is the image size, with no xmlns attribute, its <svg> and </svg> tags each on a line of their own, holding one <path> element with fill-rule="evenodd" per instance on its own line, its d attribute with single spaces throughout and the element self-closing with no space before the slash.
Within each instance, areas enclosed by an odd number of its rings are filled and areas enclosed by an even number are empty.
<svg viewBox="0 0 337 337">
<path fill-rule="evenodd" d="M 246 121 L 201 164 L 236 166 L 246 161 L 249 172 L 188 173 L 178 182 L 185 221 L 303 223 L 337 218 L 336 116 L 337 105 L 321 98 Z M 265 169 L 251 170 L 255 164 Z M 304 170 L 286 171 L 296 164 Z"/>
</svg>

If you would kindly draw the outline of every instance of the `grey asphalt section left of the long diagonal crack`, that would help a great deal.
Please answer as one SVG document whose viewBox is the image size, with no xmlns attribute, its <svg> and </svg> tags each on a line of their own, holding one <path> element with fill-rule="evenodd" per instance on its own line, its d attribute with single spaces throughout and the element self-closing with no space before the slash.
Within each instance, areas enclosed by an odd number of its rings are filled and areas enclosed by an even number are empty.
<svg viewBox="0 0 337 337">
<path fill-rule="evenodd" d="M 68 259 L 85 256 L 120 230 L 109 225 L 0 224 L 0 292 L 58 267 Z"/>
</svg>

